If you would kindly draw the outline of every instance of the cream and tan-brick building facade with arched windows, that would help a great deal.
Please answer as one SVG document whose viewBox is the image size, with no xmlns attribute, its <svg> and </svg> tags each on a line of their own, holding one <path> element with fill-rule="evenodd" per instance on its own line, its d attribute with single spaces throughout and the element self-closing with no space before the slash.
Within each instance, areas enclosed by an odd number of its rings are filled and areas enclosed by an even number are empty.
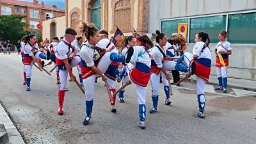
<svg viewBox="0 0 256 144">
<path fill-rule="evenodd" d="M 110 35 L 115 33 L 116 26 L 125 35 L 131 35 L 134 30 L 140 34 L 147 33 L 148 0 L 66 0 L 65 2 L 65 28 L 76 29 L 83 20 L 93 22 L 98 29 L 106 29 Z M 48 28 L 42 31 L 44 38 L 52 38 L 50 25 L 54 22 L 57 22 L 59 29 L 58 20 L 44 20 L 43 26 Z M 60 28 L 60 31 L 64 33 L 65 28 Z"/>
</svg>

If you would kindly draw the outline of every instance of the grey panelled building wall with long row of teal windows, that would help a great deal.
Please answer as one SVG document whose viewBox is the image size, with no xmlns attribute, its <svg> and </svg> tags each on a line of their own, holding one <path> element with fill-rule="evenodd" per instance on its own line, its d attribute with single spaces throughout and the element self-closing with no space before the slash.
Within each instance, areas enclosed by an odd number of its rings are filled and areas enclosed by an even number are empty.
<svg viewBox="0 0 256 144">
<path fill-rule="evenodd" d="M 177 33 L 179 23 L 187 23 L 189 52 L 193 49 L 196 33 L 209 33 L 211 74 L 216 75 L 214 49 L 218 33 L 226 30 L 232 44 L 228 77 L 256 80 L 255 17 L 255 0 L 152 0 L 148 3 L 148 33 L 159 29 L 170 38 L 171 33 Z"/>
</svg>

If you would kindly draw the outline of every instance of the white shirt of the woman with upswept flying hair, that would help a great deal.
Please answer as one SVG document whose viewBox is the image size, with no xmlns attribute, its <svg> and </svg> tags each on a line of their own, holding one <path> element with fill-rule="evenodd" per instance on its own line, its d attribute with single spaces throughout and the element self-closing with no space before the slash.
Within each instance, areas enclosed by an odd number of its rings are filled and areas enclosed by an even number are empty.
<svg viewBox="0 0 256 144">
<path fill-rule="evenodd" d="M 95 50 L 92 48 L 92 45 L 89 42 L 86 42 L 79 52 L 80 58 L 86 63 L 87 67 L 93 67 L 94 61 L 94 52 Z"/>
</svg>

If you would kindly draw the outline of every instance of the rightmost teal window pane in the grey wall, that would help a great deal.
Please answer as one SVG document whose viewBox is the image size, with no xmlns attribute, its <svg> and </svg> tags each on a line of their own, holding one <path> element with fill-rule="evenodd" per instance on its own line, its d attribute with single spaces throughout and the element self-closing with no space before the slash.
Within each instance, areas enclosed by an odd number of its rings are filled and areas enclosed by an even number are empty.
<svg viewBox="0 0 256 144">
<path fill-rule="evenodd" d="M 256 13 L 228 15 L 228 41 L 231 44 L 256 44 Z"/>
</svg>

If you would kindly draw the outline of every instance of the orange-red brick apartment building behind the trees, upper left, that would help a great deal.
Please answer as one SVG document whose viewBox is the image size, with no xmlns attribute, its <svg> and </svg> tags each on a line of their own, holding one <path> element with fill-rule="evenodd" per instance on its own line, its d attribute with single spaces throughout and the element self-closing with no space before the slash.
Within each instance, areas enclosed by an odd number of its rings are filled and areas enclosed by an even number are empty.
<svg viewBox="0 0 256 144">
<path fill-rule="evenodd" d="M 57 6 L 46 6 L 33 0 L 33 3 L 17 0 L 0 0 L 0 15 L 24 15 L 23 20 L 29 25 L 29 30 L 38 31 L 37 24 L 42 24 L 42 20 L 65 15 L 65 11 Z"/>
</svg>

